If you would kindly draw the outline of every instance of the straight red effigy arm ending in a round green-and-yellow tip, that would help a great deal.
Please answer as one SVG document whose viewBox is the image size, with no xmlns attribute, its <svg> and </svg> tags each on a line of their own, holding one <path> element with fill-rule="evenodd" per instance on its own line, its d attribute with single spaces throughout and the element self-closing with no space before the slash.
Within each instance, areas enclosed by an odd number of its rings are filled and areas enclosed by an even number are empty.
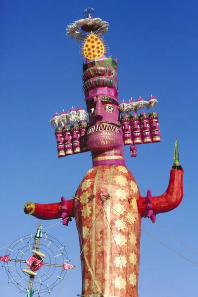
<svg viewBox="0 0 198 297">
<path fill-rule="evenodd" d="M 74 199 L 66 200 L 61 197 L 60 202 L 40 204 L 27 202 L 24 206 L 24 212 L 40 220 L 52 220 L 62 218 L 63 225 L 68 225 L 74 214 Z"/>
</svg>

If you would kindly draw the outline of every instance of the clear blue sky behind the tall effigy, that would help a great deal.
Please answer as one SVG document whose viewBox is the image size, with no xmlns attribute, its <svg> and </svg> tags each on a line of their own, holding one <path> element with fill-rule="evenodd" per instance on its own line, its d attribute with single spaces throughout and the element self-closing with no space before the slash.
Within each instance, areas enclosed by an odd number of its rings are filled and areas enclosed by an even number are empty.
<svg viewBox="0 0 198 297">
<path fill-rule="evenodd" d="M 66 25 L 87 7 L 109 22 L 105 39 L 118 58 L 119 99 L 158 99 L 162 142 L 138 147 L 126 162 L 143 196 L 168 185 L 174 138 L 184 167 L 184 199 L 157 223 L 198 250 L 197 98 L 198 2 L 196 0 L 0 1 L 0 247 L 34 232 L 38 221 L 23 213 L 26 201 L 71 198 L 92 166 L 90 153 L 58 159 L 49 119 L 55 111 L 84 103 L 79 44 Z M 46 221 L 45 227 L 52 222 Z M 143 219 L 143 229 L 198 262 L 195 253 Z M 75 221 L 49 234 L 65 244 L 74 263 L 79 255 Z M 1 250 L 3 254 L 5 251 Z M 197 296 L 198 267 L 142 233 L 139 297 Z M 2 297 L 21 296 L 0 269 Z M 57 292 L 57 290 L 55 291 Z M 52 296 L 55 296 L 55 292 Z M 81 293 L 80 262 L 60 297 Z"/>
</svg>

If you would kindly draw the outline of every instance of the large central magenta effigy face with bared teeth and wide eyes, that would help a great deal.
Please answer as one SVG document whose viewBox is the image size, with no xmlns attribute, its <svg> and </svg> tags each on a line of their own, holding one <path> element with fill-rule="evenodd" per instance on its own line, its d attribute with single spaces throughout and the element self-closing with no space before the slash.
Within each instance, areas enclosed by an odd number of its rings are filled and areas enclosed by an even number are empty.
<svg viewBox="0 0 198 297">
<path fill-rule="evenodd" d="M 96 96 L 87 101 L 87 110 L 87 147 L 98 152 L 121 145 L 123 141 L 117 101 L 108 96 Z"/>
</svg>

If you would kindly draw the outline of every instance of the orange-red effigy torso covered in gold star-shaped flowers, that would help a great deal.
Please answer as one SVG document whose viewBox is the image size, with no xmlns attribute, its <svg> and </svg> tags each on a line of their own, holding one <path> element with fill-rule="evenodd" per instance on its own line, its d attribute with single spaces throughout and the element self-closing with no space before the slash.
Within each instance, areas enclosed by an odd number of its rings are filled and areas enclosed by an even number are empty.
<svg viewBox="0 0 198 297">
<path fill-rule="evenodd" d="M 74 211 L 83 249 L 83 296 L 138 297 L 139 195 L 124 166 L 97 166 L 82 180 Z"/>
</svg>

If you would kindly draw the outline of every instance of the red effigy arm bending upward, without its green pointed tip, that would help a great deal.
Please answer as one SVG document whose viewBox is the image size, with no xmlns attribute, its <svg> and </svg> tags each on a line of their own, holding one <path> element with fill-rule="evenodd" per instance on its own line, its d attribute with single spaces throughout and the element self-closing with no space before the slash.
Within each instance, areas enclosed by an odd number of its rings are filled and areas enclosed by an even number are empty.
<svg viewBox="0 0 198 297">
<path fill-rule="evenodd" d="M 172 167 L 169 185 L 164 194 L 152 197 L 150 191 L 148 191 L 147 197 L 139 198 L 139 212 L 142 217 L 168 212 L 181 203 L 183 198 L 183 174 L 182 167 L 180 169 L 173 169 Z"/>
</svg>

